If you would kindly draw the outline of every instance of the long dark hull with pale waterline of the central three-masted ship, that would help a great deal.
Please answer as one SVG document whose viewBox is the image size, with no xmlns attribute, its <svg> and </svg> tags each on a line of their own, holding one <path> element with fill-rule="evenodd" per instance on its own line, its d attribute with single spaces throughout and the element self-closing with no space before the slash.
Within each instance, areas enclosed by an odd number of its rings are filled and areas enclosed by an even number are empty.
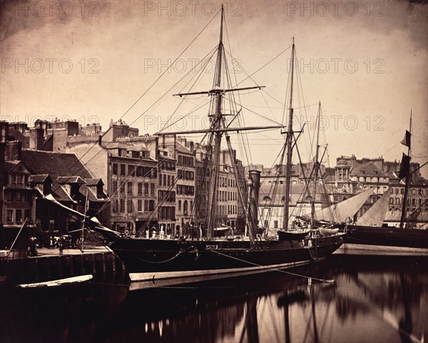
<svg viewBox="0 0 428 343">
<path fill-rule="evenodd" d="M 345 235 L 311 241 L 148 240 L 118 238 L 110 245 L 131 281 L 148 287 L 268 272 L 324 260 L 345 241 Z M 166 283 L 159 283 L 160 280 Z"/>
</svg>

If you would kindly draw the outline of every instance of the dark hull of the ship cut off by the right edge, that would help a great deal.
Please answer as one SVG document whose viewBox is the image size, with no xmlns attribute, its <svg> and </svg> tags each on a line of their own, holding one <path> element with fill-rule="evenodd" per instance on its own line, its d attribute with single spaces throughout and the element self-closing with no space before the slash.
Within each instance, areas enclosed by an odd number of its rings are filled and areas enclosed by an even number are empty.
<svg viewBox="0 0 428 343">
<path fill-rule="evenodd" d="M 398 227 L 348 226 L 347 243 L 428 249 L 428 230 Z"/>
</svg>

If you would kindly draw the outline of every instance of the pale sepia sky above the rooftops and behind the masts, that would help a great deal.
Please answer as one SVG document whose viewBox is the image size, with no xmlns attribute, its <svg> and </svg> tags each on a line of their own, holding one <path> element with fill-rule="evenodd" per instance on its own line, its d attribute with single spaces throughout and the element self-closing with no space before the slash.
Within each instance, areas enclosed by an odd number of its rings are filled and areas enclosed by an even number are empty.
<svg viewBox="0 0 428 343">
<path fill-rule="evenodd" d="M 106 129 L 111 119 L 121 118 L 161 76 L 168 60 L 174 61 L 221 4 L 85 1 L 83 10 L 81 1 L 63 3 L 59 7 L 55 1 L 3 1 L 2 120 L 32 124 L 36 118 L 72 118 L 83 125 L 99 121 Z M 412 155 L 421 164 L 428 160 L 428 4 L 394 0 L 223 4 L 233 56 L 249 72 L 285 50 L 295 37 L 297 61 L 306 65 L 300 68 L 305 104 L 321 101 L 328 123 L 323 133 L 330 165 L 335 165 L 337 156 L 352 154 L 399 160 L 405 151 L 399 141 L 409 126 L 411 109 Z M 183 71 L 190 71 L 196 61 L 192 58 L 200 61 L 215 47 L 218 29 L 217 16 L 173 71 L 166 73 L 123 120 L 128 124 L 135 121 L 133 126 L 140 128 L 141 134 L 155 133 L 180 99 L 168 96 L 149 116 L 138 116 L 178 81 Z M 258 83 L 267 88 L 263 93 L 241 96 L 245 107 L 255 105 L 253 111 L 280 121 L 280 103 L 267 93 L 284 101 L 289 58 L 290 49 L 255 74 Z M 201 80 L 194 91 L 205 90 L 212 77 L 210 73 L 208 83 Z M 237 78 L 245 77 L 240 73 Z M 240 84 L 253 85 L 249 80 Z M 197 98 L 192 103 L 205 100 Z M 315 117 L 316 111 L 317 106 L 307 107 L 307 116 Z M 199 118 L 187 121 L 186 129 L 192 128 L 193 122 L 200 123 L 206 108 L 194 114 Z M 243 116 L 248 126 L 272 124 L 245 109 Z M 183 125 L 175 126 L 179 128 Z M 272 165 L 280 150 L 279 133 L 253 133 L 248 138 L 253 163 Z M 427 167 L 422 174 L 428 177 Z"/>
</svg>

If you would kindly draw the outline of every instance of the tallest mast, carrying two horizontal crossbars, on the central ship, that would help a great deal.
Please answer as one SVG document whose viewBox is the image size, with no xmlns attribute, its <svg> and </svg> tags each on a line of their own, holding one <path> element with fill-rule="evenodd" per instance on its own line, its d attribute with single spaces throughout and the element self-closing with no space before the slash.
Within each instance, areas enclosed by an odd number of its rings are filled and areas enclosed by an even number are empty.
<svg viewBox="0 0 428 343">
<path fill-rule="evenodd" d="M 221 148 L 221 135 L 223 134 L 220 131 L 221 122 L 223 121 L 223 116 L 221 113 L 221 104 L 223 100 L 223 93 L 221 91 L 221 73 L 222 73 L 222 63 L 223 63 L 223 5 L 221 6 L 221 24 L 220 24 L 220 41 L 218 43 L 217 51 L 217 63 L 215 66 L 215 81 L 213 92 L 213 107 L 211 111 L 211 128 L 213 130 L 218 130 L 213 133 L 214 136 L 214 149 L 213 149 L 213 177 L 210 183 L 210 193 L 208 199 L 208 225 L 207 225 L 207 236 L 211 238 L 213 235 L 213 229 L 215 226 L 215 215 L 217 211 L 217 189 L 218 189 L 218 171 L 220 168 L 220 148 Z"/>
</svg>

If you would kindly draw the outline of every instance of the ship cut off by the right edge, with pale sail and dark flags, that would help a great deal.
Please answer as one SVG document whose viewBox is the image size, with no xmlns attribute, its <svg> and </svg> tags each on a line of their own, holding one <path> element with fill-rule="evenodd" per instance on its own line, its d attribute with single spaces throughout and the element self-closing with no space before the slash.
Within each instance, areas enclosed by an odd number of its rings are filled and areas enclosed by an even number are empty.
<svg viewBox="0 0 428 343">
<path fill-rule="evenodd" d="M 414 229 L 410 228 L 408 225 L 408 221 L 411 219 L 412 215 L 414 215 L 414 213 L 411 213 L 407 216 L 408 195 L 412 179 L 412 172 L 410 170 L 411 137 L 412 113 L 410 113 L 409 130 L 406 130 L 404 140 L 401 142 L 403 145 L 407 146 L 407 154 L 403 153 L 399 170 L 399 179 L 404 179 L 404 194 L 399 227 L 384 226 L 390 195 L 389 190 L 387 190 L 366 213 L 357 219 L 354 225 L 348 226 L 350 229 L 350 234 L 347 237 L 348 243 L 428 249 L 428 230 Z"/>
</svg>

